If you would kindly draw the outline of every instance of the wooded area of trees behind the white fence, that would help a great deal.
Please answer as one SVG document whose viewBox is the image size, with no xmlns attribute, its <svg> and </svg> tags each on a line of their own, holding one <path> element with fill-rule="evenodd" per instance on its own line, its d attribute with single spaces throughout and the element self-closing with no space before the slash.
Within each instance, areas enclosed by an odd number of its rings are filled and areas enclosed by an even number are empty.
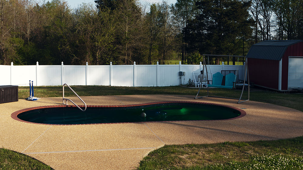
<svg viewBox="0 0 303 170">
<path fill-rule="evenodd" d="M 0 64 L 198 64 L 263 40 L 303 39 L 302 0 L 0 0 Z M 219 64 L 220 58 L 210 58 Z M 234 59 L 235 60 L 235 59 Z"/>
</svg>

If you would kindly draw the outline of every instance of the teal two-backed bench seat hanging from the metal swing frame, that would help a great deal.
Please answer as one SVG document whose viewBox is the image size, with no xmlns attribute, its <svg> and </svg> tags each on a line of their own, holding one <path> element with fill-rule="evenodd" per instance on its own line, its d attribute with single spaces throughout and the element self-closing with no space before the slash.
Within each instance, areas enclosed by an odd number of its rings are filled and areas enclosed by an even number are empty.
<svg viewBox="0 0 303 170">
<path fill-rule="evenodd" d="M 235 74 L 230 73 L 225 76 L 225 86 L 221 85 L 223 80 L 223 75 L 220 72 L 212 75 L 212 84 L 208 85 L 208 87 L 219 87 L 219 88 L 227 88 L 232 89 L 234 88 L 234 80 Z"/>
</svg>

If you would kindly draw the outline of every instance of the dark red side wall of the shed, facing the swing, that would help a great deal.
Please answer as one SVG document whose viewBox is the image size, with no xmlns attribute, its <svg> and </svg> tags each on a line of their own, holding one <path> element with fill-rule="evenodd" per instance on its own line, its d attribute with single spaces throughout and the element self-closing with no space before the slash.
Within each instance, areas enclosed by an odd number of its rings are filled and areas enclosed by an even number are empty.
<svg viewBox="0 0 303 170">
<path fill-rule="evenodd" d="M 249 81 L 278 90 L 279 61 L 248 58 Z"/>
</svg>

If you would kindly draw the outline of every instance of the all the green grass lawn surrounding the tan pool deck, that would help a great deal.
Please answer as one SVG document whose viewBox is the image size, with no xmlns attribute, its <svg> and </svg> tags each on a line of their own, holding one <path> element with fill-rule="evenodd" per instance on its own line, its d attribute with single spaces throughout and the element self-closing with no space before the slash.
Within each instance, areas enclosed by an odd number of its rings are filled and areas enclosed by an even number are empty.
<svg viewBox="0 0 303 170">
<path fill-rule="evenodd" d="M 178 94 L 195 96 L 197 88 L 172 87 L 110 87 L 110 86 L 71 86 L 79 96 L 133 95 L 133 94 Z M 35 87 L 35 96 L 62 97 L 62 86 Z M 239 97 L 241 90 L 210 89 L 210 95 Z M 28 87 L 19 87 L 19 99 L 29 95 Z M 202 89 L 201 95 L 206 94 Z M 75 96 L 65 88 L 65 96 Z M 247 91 L 243 98 L 247 98 Z M 286 106 L 303 111 L 302 93 L 282 93 L 253 88 L 250 100 Z M 198 99 L 197 101 L 203 101 Z M 17 154 L 18 156 L 12 156 Z M 23 154 L 7 149 L 0 150 L 0 169 L 32 169 L 36 161 Z M 148 154 L 138 167 L 139 170 L 233 170 L 233 169 L 303 169 L 303 137 L 275 141 L 224 142 L 203 145 L 165 145 Z M 12 158 L 13 159 L 10 159 Z M 5 162 L 5 163 L 2 163 Z M 24 164 L 15 162 L 25 162 Z M 19 166 L 19 167 L 18 167 Z M 46 165 L 41 165 L 44 168 Z"/>
</svg>

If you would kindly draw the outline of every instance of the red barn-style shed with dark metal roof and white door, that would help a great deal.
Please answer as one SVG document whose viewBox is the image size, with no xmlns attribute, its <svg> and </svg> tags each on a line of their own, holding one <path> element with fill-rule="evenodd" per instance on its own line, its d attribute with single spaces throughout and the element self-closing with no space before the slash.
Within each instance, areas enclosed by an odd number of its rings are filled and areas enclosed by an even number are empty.
<svg viewBox="0 0 303 170">
<path fill-rule="evenodd" d="M 303 41 L 262 41 L 247 54 L 249 80 L 279 91 L 303 89 Z"/>
</svg>

